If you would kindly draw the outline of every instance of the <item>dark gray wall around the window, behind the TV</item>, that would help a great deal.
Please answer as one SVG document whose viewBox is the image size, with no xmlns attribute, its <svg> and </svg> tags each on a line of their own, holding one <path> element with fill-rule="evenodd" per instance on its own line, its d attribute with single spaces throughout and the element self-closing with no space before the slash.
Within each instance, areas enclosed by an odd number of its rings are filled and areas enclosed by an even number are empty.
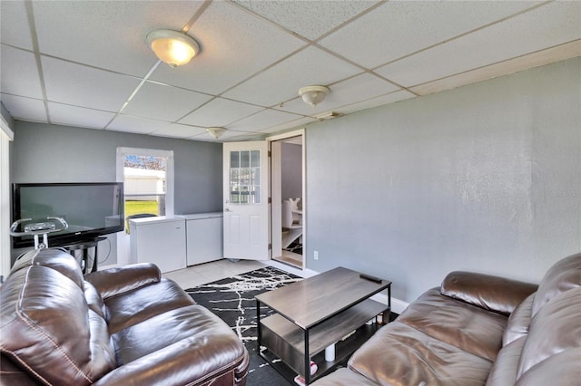
<svg viewBox="0 0 581 386">
<path fill-rule="evenodd" d="M 175 214 L 222 211 L 221 143 L 15 121 L 11 180 L 114 181 L 118 147 L 173 150 Z M 107 264 L 116 262 L 112 243 Z M 13 251 L 13 259 L 20 252 Z"/>
</svg>

